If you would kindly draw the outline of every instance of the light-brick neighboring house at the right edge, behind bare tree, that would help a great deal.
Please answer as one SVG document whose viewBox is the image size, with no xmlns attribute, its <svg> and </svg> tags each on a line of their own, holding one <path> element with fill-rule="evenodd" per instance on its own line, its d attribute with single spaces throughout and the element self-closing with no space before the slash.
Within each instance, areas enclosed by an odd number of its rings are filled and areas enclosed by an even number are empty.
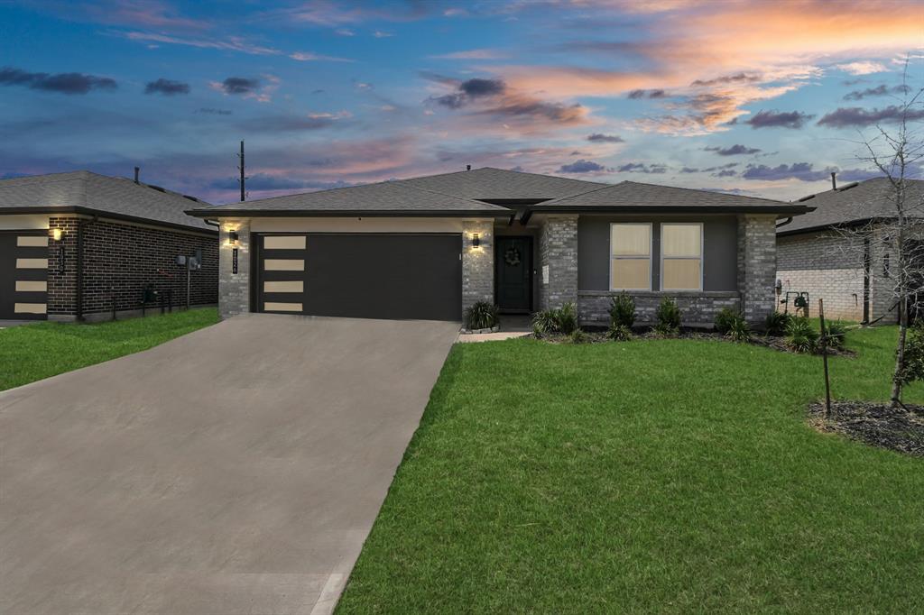
<svg viewBox="0 0 924 615">
<path fill-rule="evenodd" d="M 924 181 L 906 180 L 906 185 L 906 202 L 918 203 L 911 213 L 919 217 Z M 879 233 L 881 223 L 894 219 L 893 195 L 888 178 L 877 177 L 799 199 L 815 210 L 777 228 L 781 298 L 787 292 L 808 293 L 812 316 L 821 298 L 829 318 L 895 322 L 890 250 L 879 239 L 864 242 L 856 232 Z"/>
</svg>

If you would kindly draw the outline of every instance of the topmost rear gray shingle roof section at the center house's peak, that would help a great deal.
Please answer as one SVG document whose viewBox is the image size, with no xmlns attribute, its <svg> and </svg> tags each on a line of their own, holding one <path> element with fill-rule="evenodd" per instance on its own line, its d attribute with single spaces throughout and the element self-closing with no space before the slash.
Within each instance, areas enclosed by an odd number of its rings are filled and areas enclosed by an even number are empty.
<svg viewBox="0 0 924 615">
<path fill-rule="evenodd" d="M 490 200 L 557 199 L 607 186 L 600 182 L 505 171 L 490 166 L 472 171 L 415 177 L 404 180 L 404 183 L 465 199 Z"/>
</svg>

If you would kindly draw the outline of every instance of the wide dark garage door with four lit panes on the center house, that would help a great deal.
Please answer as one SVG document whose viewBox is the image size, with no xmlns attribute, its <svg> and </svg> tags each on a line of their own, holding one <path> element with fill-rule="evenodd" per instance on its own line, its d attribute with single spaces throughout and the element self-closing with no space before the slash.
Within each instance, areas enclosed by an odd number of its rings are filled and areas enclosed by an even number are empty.
<svg viewBox="0 0 924 615">
<path fill-rule="evenodd" d="M 462 236 L 261 235 L 258 311 L 462 320 Z"/>
</svg>

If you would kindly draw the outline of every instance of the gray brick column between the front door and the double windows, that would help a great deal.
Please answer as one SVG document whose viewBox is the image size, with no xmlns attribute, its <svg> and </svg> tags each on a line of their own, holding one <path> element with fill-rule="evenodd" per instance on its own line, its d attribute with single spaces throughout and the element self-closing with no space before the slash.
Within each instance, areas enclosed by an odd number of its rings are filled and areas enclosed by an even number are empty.
<svg viewBox="0 0 924 615">
<path fill-rule="evenodd" d="M 577 303 L 577 215 L 552 215 L 539 234 L 542 309 Z"/>
</svg>

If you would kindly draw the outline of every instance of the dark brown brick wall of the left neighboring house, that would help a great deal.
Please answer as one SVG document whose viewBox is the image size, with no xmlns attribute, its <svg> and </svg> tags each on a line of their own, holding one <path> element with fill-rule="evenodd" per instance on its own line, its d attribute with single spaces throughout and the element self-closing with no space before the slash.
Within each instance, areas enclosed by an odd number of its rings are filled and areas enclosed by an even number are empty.
<svg viewBox="0 0 924 615">
<path fill-rule="evenodd" d="M 60 242 L 50 242 L 48 313 L 77 313 L 77 218 L 50 218 L 50 233 L 62 229 Z M 143 289 L 153 284 L 171 289 L 174 303 L 186 303 L 186 271 L 177 255 L 202 250 L 202 268 L 192 271 L 190 303 L 213 304 L 218 296 L 218 246 L 214 235 L 187 233 L 137 224 L 83 219 L 83 313 L 91 315 L 140 308 Z M 64 258 L 64 271 L 61 259 Z"/>
</svg>

